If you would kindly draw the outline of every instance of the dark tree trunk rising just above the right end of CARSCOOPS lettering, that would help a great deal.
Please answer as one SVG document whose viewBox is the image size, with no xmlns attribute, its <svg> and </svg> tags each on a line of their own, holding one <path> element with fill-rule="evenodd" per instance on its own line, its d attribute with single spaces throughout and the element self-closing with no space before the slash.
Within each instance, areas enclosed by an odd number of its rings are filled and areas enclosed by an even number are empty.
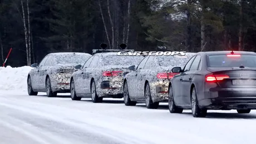
<svg viewBox="0 0 256 144">
<path fill-rule="evenodd" d="M 191 0 L 188 0 L 188 13 L 187 13 L 187 19 L 186 19 L 186 27 L 187 27 L 187 38 L 186 38 L 186 47 L 188 52 L 192 51 L 192 43 L 191 43 Z"/>
</svg>

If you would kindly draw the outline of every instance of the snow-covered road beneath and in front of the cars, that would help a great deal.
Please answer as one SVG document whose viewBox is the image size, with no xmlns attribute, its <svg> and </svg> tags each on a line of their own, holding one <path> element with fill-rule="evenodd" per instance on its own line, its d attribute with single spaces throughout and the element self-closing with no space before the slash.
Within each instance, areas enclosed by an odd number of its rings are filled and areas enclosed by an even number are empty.
<svg viewBox="0 0 256 144">
<path fill-rule="evenodd" d="M 147 110 L 122 100 L 71 101 L 59 96 L 0 92 L 0 143 L 255 143 L 256 112 L 210 111 L 193 118 L 190 111 L 171 114 L 166 103 Z"/>
</svg>

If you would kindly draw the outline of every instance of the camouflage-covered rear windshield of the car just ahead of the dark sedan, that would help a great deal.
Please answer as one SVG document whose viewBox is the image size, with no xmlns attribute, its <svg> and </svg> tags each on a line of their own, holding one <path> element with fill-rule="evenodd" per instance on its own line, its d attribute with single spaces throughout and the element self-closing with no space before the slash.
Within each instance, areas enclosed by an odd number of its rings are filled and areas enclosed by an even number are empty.
<svg viewBox="0 0 256 144">
<path fill-rule="evenodd" d="M 184 67 L 190 58 L 191 57 L 189 56 L 157 56 L 159 65 L 161 67 Z"/>
</svg>

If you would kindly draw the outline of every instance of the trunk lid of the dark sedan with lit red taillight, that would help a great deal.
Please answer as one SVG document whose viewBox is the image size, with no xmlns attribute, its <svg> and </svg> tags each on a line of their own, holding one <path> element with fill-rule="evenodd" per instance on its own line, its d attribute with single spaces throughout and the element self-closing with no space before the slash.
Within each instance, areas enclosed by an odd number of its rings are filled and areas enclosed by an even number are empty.
<svg viewBox="0 0 256 144">
<path fill-rule="evenodd" d="M 209 67 L 217 83 L 223 88 L 254 88 L 256 87 L 255 67 Z"/>
</svg>

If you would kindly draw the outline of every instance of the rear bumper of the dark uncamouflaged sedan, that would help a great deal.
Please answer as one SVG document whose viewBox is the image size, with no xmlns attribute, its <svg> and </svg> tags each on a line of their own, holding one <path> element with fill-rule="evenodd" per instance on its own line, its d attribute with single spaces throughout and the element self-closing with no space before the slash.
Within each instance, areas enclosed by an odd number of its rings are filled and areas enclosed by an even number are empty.
<svg viewBox="0 0 256 144">
<path fill-rule="evenodd" d="M 256 88 L 212 88 L 198 102 L 213 110 L 256 110 Z"/>
</svg>

